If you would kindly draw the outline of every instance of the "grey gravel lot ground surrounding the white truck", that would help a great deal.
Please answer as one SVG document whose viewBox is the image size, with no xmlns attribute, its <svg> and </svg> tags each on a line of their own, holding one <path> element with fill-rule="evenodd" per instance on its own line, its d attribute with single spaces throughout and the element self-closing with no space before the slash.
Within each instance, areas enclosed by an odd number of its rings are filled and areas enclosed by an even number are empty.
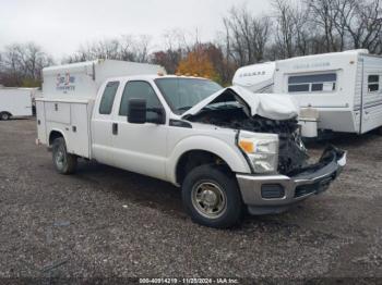
<svg viewBox="0 0 382 285">
<path fill-rule="evenodd" d="M 0 277 L 382 277 L 382 136 L 333 141 L 348 165 L 329 191 L 230 231 L 193 224 L 159 181 L 59 175 L 35 137 L 33 120 L 0 122 Z"/>
</svg>

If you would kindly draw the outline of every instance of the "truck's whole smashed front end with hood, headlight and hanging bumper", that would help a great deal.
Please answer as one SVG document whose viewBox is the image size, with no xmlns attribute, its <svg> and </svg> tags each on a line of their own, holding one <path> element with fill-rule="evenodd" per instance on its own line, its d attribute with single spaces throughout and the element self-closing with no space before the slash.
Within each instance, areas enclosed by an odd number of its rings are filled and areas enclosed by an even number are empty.
<svg viewBox="0 0 382 285">
<path fill-rule="evenodd" d="M 329 147 L 317 163 L 309 164 L 297 115 L 288 95 L 231 87 L 205 99 L 183 119 L 238 131 L 238 147 L 254 174 L 237 175 L 240 190 L 250 212 L 263 214 L 280 212 L 326 189 L 346 163 L 344 151 Z"/>
</svg>

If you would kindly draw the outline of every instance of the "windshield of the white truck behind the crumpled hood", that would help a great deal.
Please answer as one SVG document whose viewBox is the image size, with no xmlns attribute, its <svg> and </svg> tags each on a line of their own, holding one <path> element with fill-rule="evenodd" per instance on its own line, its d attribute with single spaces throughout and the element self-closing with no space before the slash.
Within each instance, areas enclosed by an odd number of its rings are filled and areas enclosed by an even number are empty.
<svg viewBox="0 0 382 285">
<path fill-rule="evenodd" d="M 217 83 L 198 78 L 158 78 L 155 83 L 176 114 L 184 113 L 223 89 Z"/>
</svg>

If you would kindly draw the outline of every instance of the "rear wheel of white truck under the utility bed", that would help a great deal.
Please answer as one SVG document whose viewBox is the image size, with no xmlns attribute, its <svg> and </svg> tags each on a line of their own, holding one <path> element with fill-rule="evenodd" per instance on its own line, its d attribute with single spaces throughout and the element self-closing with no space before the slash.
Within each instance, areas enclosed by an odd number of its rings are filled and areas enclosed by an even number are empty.
<svg viewBox="0 0 382 285">
<path fill-rule="evenodd" d="M 58 173 L 69 175 L 75 172 L 77 157 L 68 153 L 63 137 L 55 139 L 52 145 L 52 159 Z"/>
</svg>

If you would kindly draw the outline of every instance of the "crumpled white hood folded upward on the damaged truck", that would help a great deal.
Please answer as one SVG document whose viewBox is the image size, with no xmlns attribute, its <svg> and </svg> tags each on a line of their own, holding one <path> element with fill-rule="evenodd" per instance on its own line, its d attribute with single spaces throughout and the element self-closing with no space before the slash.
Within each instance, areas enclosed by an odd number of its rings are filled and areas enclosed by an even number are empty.
<svg viewBox="0 0 382 285">
<path fill-rule="evenodd" d="M 231 86 L 199 102 L 184 112 L 182 117 L 195 115 L 210 103 L 231 101 L 232 96 L 238 101 L 247 103 L 252 116 L 261 115 L 271 120 L 289 120 L 298 115 L 298 108 L 287 94 L 253 94 L 240 86 Z"/>
</svg>

